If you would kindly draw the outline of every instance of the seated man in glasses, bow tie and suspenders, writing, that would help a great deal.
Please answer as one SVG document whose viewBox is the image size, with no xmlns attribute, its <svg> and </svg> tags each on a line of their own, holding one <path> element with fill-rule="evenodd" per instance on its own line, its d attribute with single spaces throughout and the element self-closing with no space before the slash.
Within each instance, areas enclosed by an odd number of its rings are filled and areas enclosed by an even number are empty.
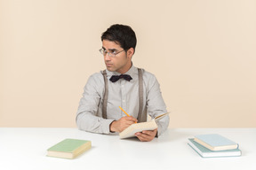
<svg viewBox="0 0 256 170">
<path fill-rule="evenodd" d="M 147 121 L 166 112 L 155 75 L 132 65 L 136 35 L 131 27 L 113 25 L 101 35 L 107 69 L 94 73 L 84 87 L 76 115 L 77 127 L 93 133 L 120 133 L 133 123 Z M 121 106 L 130 116 L 125 116 Z M 155 130 L 135 135 L 151 141 L 168 127 L 169 116 L 157 122 Z"/>
</svg>

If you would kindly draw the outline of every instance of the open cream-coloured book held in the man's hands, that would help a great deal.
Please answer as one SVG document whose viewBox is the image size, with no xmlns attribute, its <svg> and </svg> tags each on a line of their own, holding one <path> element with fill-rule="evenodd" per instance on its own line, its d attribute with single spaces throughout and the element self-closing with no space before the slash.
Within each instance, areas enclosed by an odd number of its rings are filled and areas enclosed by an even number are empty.
<svg viewBox="0 0 256 170">
<path fill-rule="evenodd" d="M 147 121 L 147 122 L 140 122 L 140 123 L 134 123 L 130 127 L 125 128 L 123 132 L 119 134 L 119 137 L 121 139 L 134 137 L 135 133 L 142 132 L 143 130 L 154 130 L 157 128 L 156 121 L 161 120 L 169 114 L 170 112 L 165 112 L 164 114 L 161 114 L 159 116 L 156 116 L 155 119 Z"/>
</svg>

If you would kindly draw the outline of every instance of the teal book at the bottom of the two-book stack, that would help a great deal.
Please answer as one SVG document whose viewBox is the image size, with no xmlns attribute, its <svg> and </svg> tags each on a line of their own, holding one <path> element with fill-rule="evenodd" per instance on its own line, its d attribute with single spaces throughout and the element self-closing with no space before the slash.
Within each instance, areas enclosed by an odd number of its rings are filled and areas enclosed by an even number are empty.
<svg viewBox="0 0 256 170">
<path fill-rule="evenodd" d="M 193 138 L 188 139 L 188 145 L 196 151 L 202 158 L 216 158 L 216 157 L 239 157 L 242 151 L 239 149 L 226 151 L 211 151 L 199 143 L 196 143 Z"/>
</svg>

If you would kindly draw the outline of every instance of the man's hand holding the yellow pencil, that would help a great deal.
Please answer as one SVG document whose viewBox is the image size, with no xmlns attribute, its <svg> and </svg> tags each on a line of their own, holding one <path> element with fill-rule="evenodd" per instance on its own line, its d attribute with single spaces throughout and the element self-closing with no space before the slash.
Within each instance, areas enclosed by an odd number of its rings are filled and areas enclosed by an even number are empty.
<svg viewBox="0 0 256 170">
<path fill-rule="evenodd" d="M 133 118 L 132 116 L 125 116 L 120 120 L 115 120 L 110 124 L 110 131 L 111 132 L 122 132 L 125 128 L 130 127 L 133 123 L 137 122 L 138 120 Z"/>
</svg>

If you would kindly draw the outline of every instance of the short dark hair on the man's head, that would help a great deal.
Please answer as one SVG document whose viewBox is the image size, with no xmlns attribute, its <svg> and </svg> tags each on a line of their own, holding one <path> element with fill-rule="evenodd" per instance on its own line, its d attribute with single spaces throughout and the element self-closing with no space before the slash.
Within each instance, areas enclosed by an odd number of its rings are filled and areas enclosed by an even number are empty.
<svg viewBox="0 0 256 170">
<path fill-rule="evenodd" d="M 124 26 L 120 24 L 112 25 L 107 29 L 107 31 L 102 33 L 101 42 L 103 40 L 116 42 L 125 51 L 129 50 L 130 48 L 133 48 L 135 52 L 137 39 L 134 31 L 132 30 L 132 27 Z"/>
</svg>

